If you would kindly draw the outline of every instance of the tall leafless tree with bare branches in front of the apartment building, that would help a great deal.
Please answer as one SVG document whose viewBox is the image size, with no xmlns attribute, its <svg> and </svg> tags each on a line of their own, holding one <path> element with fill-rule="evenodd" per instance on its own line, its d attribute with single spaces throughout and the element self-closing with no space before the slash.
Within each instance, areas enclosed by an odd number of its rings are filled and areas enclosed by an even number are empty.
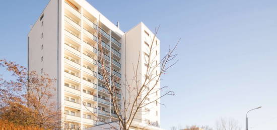
<svg viewBox="0 0 277 130">
<path fill-rule="evenodd" d="M 160 62 L 156 62 L 156 60 L 154 60 L 156 57 L 156 55 L 154 55 L 154 53 L 156 53 L 155 48 L 157 47 L 154 43 L 157 39 L 156 35 L 158 33 L 158 30 L 159 28 L 155 31 L 154 37 L 151 38 L 151 44 L 149 45 L 148 53 L 149 58 L 145 58 L 147 69 L 144 70 L 146 72 L 146 74 L 144 75 L 144 79 L 140 80 L 138 78 L 138 76 L 141 74 L 141 72 L 138 72 L 138 65 L 142 62 L 141 54 L 139 54 L 137 57 L 137 63 L 132 64 L 134 76 L 132 77 L 131 81 L 126 81 L 126 83 L 123 84 L 125 86 L 125 94 L 121 92 L 122 109 L 119 105 L 119 101 L 116 98 L 116 93 L 118 93 L 118 91 L 115 89 L 115 85 L 118 84 L 119 81 L 116 76 L 113 73 L 110 74 L 111 72 L 109 72 L 109 70 L 107 70 L 106 68 L 107 62 L 105 61 L 105 51 L 102 47 L 102 36 L 100 35 L 100 30 L 97 31 L 99 51 L 98 61 L 101 64 L 100 73 L 103 77 L 105 88 L 108 90 L 107 92 L 109 93 L 109 97 L 113 106 L 113 113 L 116 114 L 116 120 L 118 120 L 117 124 L 119 125 L 119 128 L 115 128 L 112 125 L 111 128 L 123 130 L 129 129 L 138 114 L 143 114 L 144 112 L 147 112 L 142 108 L 150 104 L 160 103 L 158 102 L 159 99 L 165 95 L 174 95 L 174 92 L 169 90 L 165 91 L 165 93 L 159 95 L 155 99 L 149 99 L 150 96 L 156 95 L 157 92 L 160 92 L 167 88 L 166 86 L 158 88 L 157 84 L 159 83 L 161 76 L 177 62 L 175 61 L 177 54 L 174 54 L 174 51 L 179 41 L 175 46 L 173 46 L 172 49 L 169 48 L 168 52 L 164 57 L 161 58 Z M 112 66 L 110 67 L 110 71 L 111 70 L 113 70 Z M 126 75 L 124 76 L 126 77 Z M 92 111 L 91 113 L 97 117 L 97 115 L 95 115 Z M 153 124 L 149 123 L 149 125 Z"/>
</svg>

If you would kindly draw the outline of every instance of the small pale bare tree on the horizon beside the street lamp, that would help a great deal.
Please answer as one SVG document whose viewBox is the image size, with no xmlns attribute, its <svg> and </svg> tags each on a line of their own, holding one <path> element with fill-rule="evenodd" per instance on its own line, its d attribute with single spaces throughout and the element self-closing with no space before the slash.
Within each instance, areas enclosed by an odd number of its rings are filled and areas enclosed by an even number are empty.
<svg viewBox="0 0 277 130">
<path fill-rule="evenodd" d="M 237 120 L 233 118 L 221 117 L 216 122 L 216 129 L 217 130 L 240 130 L 241 128 Z"/>
</svg>

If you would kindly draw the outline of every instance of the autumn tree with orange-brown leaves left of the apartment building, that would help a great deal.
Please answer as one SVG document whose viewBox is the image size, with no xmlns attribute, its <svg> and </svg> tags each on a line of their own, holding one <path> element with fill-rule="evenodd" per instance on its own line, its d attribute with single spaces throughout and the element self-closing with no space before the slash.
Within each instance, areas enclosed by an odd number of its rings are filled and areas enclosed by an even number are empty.
<svg viewBox="0 0 277 130">
<path fill-rule="evenodd" d="M 16 125 L 58 128 L 61 122 L 55 101 L 55 79 L 35 71 L 28 72 L 15 62 L 0 60 L 0 67 L 11 73 L 13 80 L 0 76 L 0 119 Z"/>
</svg>

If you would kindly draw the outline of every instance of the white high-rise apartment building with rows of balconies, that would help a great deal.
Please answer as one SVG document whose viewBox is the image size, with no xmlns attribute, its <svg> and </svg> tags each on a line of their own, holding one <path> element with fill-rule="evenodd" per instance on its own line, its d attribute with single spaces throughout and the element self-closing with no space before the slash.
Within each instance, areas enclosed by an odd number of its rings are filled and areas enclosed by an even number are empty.
<svg viewBox="0 0 277 130">
<path fill-rule="evenodd" d="M 28 69 L 57 79 L 56 102 L 61 107 L 65 129 L 83 129 L 116 120 L 99 71 L 97 30 L 102 35 L 106 69 L 119 80 L 115 87 L 122 105 L 121 94 L 126 81 L 133 77 L 132 64 L 137 63 L 139 53 L 138 79 L 144 79 L 146 66 L 142 55 L 149 53 L 154 34 L 143 23 L 124 33 L 85 0 L 50 0 L 28 34 Z M 160 41 L 156 39 L 155 44 L 155 60 L 159 63 Z M 158 92 L 156 96 L 159 95 Z M 153 103 L 144 110 L 148 113 L 138 115 L 136 121 L 160 126 L 160 104 Z"/>
</svg>

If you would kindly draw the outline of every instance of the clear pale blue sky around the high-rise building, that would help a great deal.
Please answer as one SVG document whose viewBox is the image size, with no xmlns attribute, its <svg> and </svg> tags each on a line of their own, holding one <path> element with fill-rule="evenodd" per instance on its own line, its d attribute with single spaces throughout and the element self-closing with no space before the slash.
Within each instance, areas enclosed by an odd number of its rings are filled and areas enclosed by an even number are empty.
<svg viewBox="0 0 277 130">
<path fill-rule="evenodd" d="M 162 127 L 215 125 L 233 117 L 249 130 L 277 129 L 277 1 L 92 1 L 123 31 L 144 22 L 162 54 L 179 38 L 179 62 L 163 76 Z M 0 58 L 27 65 L 27 34 L 48 0 L 3 1 Z M 3 73 L 3 72 L 0 72 Z M 251 128 L 252 127 L 252 128 Z"/>
</svg>

